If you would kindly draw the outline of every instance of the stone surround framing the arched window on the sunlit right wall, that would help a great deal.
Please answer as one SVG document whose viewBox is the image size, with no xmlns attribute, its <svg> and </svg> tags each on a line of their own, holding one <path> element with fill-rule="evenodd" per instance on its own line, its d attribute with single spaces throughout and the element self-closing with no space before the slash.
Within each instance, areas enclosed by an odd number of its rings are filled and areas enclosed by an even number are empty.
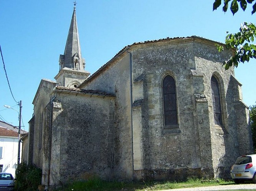
<svg viewBox="0 0 256 191">
<path fill-rule="evenodd" d="M 226 98 L 225 98 L 225 88 L 224 88 L 224 82 L 223 79 L 221 77 L 221 75 L 217 72 L 214 72 L 211 75 L 211 78 L 215 77 L 215 79 L 218 82 L 219 85 L 219 94 L 220 94 L 220 104 L 221 104 L 221 117 L 222 117 L 222 126 L 219 126 L 217 124 L 215 124 L 215 118 L 214 118 L 214 111 L 213 111 L 213 97 L 211 94 L 211 104 L 212 104 L 212 113 L 213 113 L 213 125 L 215 126 L 216 129 L 220 129 L 221 131 L 219 132 L 219 134 L 223 134 L 224 132 L 228 133 L 227 130 L 227 126 L 226 126 L 226 119 L 227 119 L 227 112 L 226 112 Z M 210 78 L 210 88 L 212 90 L 211 87 L 211 78 Z"/>
</svg>

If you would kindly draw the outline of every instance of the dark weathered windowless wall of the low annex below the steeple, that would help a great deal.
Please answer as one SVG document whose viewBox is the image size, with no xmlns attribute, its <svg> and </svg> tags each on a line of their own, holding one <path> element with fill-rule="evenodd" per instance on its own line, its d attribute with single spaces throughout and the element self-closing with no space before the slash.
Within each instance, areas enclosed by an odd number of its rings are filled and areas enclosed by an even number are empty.
<svg viewBox="0 0 256 191">
<path fill-rule="evenodd" d="M 109 180 L 114 172 L 113 97 L 66 93 L 55 97 L 53 115 L 46 118 L 50 126 L 44 129 L 43 184 L 48 183 L 48 173 L 50 185 L 94 176 Z"/>
</svg>

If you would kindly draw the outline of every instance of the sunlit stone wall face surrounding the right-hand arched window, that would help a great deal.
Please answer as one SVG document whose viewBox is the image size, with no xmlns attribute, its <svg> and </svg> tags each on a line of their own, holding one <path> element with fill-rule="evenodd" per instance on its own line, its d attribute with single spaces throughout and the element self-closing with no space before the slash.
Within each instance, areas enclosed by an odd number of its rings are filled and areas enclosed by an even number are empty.
<svg viewBox="0 0 256 191">
<path fill-rule="evenodd" d="M 205 98 L 207 100 L 207 108 L 205 107 L 206 113 L 209 116 L 209 143 L 210 151 L 212 156 L 212 167 L 214 170 L 215 178 L 228 178 L 230 172 L 230 166 L 232 165 L 230 159 L 235 159 L 232 143 L 234 137 L 229 134 L 229 131 L 236 128 L 230 125 L 230 119 L 235 115 L 235 112 L 228 112 L 228 108 L 234 107 L 233 99 L 230 99 L 227 95 L 232 95 L 233 89 L 228 89 L 228 86 L 232 86 L 230 81 L 231 76 L 234 73 L 234 69 L 225 70 L 222 67 L 223 60 L 226 60 L 225 55 L 215 53 L 215 47 L 195 45 L 195 50 L 197 54 L 195 55 L 195 65 L 196 70 L 200 71 L 203 79 L 203 86 Z M 207 50 L 207 51 L 206 51 Z M 228 55 L 227 55 L 228 56 Z M 216 76 L 220 84 L 220 94 L 221 94 L 221 105 L 223 112 L 223 124 L 224 127 L 215 126 L 214 114 L 213 114 L 213 101 L 211 92 L 211 77 Z M 199 125 L 200 126 L 200 125 Z M 204 137 L 202 136 L 201 139 Z M 203 150 L 203 145 L 201 144 L 201 150 Z M 202 166 L 203 167 L 203 166 Z"/>
</svg>

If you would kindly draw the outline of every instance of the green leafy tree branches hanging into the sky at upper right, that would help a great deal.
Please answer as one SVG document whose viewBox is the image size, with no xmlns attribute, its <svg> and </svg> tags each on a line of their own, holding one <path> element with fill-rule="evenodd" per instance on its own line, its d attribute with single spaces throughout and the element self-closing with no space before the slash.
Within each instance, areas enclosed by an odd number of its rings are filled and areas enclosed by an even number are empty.
<svg viewBox="0 0 256 191">
<path fill-rule="evenodd" d="M 228 3 L 230 4 L 230 10 L 235 15 L 239 9 L 239 5 L 242 10 L 246 10 L 248 3 L 253 5 L 253 11 L 251 14 L 256 12 L 256 0 L 215 0 L 213 3 L 213 11 L 216 10 L 223 1 L 222 10 L 226 12 L 228 10 Z M 239 3 L 239 5 L 238 5 Z M 253 4 L 254 3 L 254 4 Z M 232 65 L 238 66 L 238 63 L 249 62 L 250 58 L 256 58 L 256 46 L 253 44 L 254 37 L 256 37 L 256 26 L 252 23 L 242 23 L 239 32 L 230 34 L 225 39 L 225 47 L 228 50 L 234 50 L 234 54 L 229 60 L 225 61 L 223 65 L 228 70 Z M 224 49 L 223 45 L 217 45 L 218 51 Z"/>
</svg>

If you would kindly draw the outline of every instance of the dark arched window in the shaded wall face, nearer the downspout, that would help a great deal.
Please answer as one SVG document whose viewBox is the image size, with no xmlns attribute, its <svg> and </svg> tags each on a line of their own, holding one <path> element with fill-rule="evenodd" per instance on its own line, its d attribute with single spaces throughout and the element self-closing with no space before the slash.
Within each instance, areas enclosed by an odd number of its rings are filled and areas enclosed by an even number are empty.
<svg viewBox="0 0 256 191">
<path fill-rule="evenodd" d="M 163 79 L 164 128 L 178 128 L 178 113 L 175 80 L 167 75 Z"/>
</svg>

